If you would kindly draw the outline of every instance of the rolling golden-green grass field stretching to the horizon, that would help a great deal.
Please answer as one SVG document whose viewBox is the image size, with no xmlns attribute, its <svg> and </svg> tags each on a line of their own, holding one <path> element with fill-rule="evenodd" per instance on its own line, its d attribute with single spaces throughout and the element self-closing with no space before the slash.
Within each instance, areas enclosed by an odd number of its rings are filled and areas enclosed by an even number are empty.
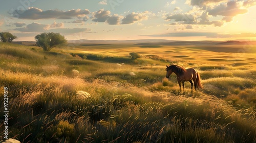
<svg viewBox="0 0 256 143">
<path fill-rule="evenodd" d="M 136 52 L 140 58 L 132 59 Z M 166 65 L 195 68 L 180 91 Z M 79 43 L 44 52 L 0 42 L 8 137 L 21 142 L 256 142 L 256 45 Z M 1 116 L 4 139 L 4 116 Z"/>
</svg>

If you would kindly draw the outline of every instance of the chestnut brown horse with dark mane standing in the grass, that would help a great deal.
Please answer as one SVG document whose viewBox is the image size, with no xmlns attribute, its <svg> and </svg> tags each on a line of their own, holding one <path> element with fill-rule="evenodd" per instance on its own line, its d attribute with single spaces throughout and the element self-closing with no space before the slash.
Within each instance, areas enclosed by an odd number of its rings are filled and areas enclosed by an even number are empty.
<svg viewBox="0 0 256 143">
<path fill-rule="evenodd" d="M 194 68 L 187 68 L 185 69 L 182 66 L 179 65 L 166 65 L 166 78 L 168 79 L 170 74 L 175 73 L 177 75 L 177 80 L 180 86 L 180 91 L 181 91 L 181 82 L 183 86 L 183 91 L 184 91 L 184 82 L 189 81 L 191 83 L 191 92 L 193 91 L 193 82 L 194 81 L 194 86 L 197 91 L 198 89 L 203 89 L 204 86 L 201 82 L 200 75 L 198 71 Z"/>
</svg>

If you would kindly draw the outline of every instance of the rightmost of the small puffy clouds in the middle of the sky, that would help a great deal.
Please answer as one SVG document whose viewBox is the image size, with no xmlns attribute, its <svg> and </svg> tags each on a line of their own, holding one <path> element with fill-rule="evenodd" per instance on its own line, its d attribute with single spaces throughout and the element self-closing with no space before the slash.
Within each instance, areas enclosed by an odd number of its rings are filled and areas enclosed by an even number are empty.
<svg viewBox="0 0 256 143">
<path fill-rule="evenodd" d="M 150 12 L 148 12 L 148 11 L 145 11 L 142 13 L 132 12 L 131 14 L 126 15 L 122 19 L 121 25 L 129 25 L 129 24 L 133 24 L 137 21 L 146 20 L 148 18 L 148 14 L 150 14 Z"/>
</svg>

